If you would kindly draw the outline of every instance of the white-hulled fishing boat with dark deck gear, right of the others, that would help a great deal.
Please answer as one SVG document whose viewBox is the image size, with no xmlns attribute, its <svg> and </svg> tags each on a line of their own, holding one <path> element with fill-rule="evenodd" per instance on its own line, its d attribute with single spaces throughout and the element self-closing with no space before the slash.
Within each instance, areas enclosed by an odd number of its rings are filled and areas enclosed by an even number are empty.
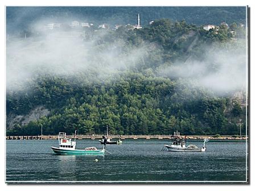
<svg viewBox="0 0 256 191">
<path fill-rule="evenodd" d="M 174 151 L 174 152 L 204 152 L 206 151 L 205 142 L 208 142 L 208 139 L 204 139 L 203 147 L 197 147 L 194 144 L 189 144 L 186 147 L 185 139 L 181 137 L 174 137 L 172 139 L 172 144 L 164 146 L 167 148 L 167 151 Z"/>
</svg>

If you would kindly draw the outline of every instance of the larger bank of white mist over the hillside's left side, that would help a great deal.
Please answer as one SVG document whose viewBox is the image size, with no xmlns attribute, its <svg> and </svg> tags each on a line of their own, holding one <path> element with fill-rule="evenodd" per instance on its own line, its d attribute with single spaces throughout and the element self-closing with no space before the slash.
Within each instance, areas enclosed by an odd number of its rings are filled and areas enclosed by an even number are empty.
<svg viewBox="0 0 256 191">
<path fill-rule="evenodd" d="M 45 30 L 45 23 L 31 26 L 39 35 L 10 38 L 7 43 L 7 89 L 26 85 L 35 74 L 76 76 L 93 70 L 95 77 L 105 78 L 136 67 L 146 55 L 146 43 L 127 47 L 122 39 L 109 39 L 108 30 Z"/>
</svg>

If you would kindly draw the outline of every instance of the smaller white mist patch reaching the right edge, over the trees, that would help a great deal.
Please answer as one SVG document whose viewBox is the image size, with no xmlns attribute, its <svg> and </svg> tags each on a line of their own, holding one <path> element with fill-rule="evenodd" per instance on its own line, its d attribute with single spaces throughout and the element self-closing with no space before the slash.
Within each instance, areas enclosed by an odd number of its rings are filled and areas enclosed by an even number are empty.
<svg viewBox="0 0 256 191">
<path fill-rule="evenodd" d="M 244 40 L 243 40 L 244 41 Z M 161 68 L 160 76 L 173 79 L 187 78 L 196 83 L 197 88 L 207 88 L 216 94 L 226 94 L 245 90 L 246 52 L 245 44 L 213 44 L 203 47 L 199 59 L 188 59 L 184 63 L 174 63 Z"/>
</svg>

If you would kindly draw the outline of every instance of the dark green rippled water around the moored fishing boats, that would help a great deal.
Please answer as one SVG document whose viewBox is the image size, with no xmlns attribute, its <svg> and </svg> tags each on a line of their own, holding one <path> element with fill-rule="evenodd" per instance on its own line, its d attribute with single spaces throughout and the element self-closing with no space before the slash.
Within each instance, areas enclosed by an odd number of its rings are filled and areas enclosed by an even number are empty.
<svg viewBox="0 0 256 191">
<path fill-rule="evenodd" d="M 245 141 L 213 141 L 206 152 L 161 151 L 170 140 L 124 140 L 105 156 L 53 155 L 57 140 L 6 140 L 6 181 L 245 181 Z M 188 141 L 202 146 L 203 141 Z M 77 140 L 77 148 L 98 140 Z M 98 159 L 98 162 L 94 161 Z"/>
</svg>

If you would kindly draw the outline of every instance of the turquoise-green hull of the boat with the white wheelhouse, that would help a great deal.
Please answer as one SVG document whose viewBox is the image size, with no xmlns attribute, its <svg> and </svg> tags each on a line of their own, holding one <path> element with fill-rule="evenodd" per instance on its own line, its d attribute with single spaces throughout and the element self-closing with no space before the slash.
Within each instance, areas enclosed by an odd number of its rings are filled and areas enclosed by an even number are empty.
<svg viewBox="0 0 256 191">
<path fill-rule="evenodd" d="M 105 150 L 64 150 L 51 147 L 56 155 L 104 155 Z"/>
</svg>

